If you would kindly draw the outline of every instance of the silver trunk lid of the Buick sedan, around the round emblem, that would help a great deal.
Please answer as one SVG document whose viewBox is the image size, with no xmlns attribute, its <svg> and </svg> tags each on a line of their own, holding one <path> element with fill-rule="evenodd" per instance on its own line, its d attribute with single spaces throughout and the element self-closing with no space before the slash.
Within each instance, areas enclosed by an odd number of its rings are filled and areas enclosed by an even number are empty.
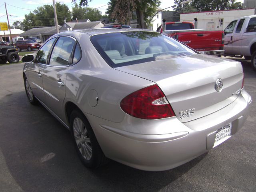
<svg viewBox="0 0 256 192">
<path fill-rule="evenodd" d="M 243 75 L 239 62 L 203 54 L 116 69 L 155 82 L 181 122 L 206 116 L 236 100 L 233 93 L 241 88 Z M 218 78 L 223 82 L 220 92 L 215 89 Z"/>
</svg>

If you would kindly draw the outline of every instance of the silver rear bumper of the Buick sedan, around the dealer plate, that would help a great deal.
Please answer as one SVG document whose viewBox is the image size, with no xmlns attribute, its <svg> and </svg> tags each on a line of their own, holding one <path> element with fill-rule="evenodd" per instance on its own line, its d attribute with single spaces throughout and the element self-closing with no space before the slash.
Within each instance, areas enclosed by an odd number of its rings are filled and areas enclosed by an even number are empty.
<svg viewBox="0 0 256 192">
<path fill-rule="evenodd" d="M 140 120 L 142 123 L 138 124 L 139 120 L 133 117 L 124 118 L 121 123 L 92 115 L 88 120 L 108 158 L 141 170 L 161 171 L 182 165 L 234 135 L 242 128 L 251 102 L 250 95 L 242 90 L 234 102 L 213 114 L 186 123 L 176 117 L 162 119 L 165 122 L 159 120 L 157 129 L 155 121 Z M 230 136 L 215 143 L 216 130 L 230 122 Z M 155 134 L 140 133 L 144 127 Z"/>
</svg>

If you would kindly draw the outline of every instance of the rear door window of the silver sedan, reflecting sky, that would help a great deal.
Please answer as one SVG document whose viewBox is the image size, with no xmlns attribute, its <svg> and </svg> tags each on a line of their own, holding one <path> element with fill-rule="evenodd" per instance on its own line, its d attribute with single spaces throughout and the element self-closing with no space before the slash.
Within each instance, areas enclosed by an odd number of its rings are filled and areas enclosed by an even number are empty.
<svg viewBox="0 0 256 192">
<path fill-rule="evenodd" d="M 50 65 L 64 66 L 70 63 L 75 40 L 70 37 L 58 38 L 50 58 Z"/>
</svg>

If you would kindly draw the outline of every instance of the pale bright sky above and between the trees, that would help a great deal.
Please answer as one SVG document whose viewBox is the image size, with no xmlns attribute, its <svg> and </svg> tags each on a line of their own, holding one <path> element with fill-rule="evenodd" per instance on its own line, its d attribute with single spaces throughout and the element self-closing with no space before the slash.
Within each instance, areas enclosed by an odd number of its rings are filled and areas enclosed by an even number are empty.
<svg viewBox="0 0 256 192">
<path fill-rule="evenodd" d="M 72 0 L 55 0 L 55 2 L 60 2 L 66 4 L 70 10 L 72 10 Z M 79 2 L 79 0 L 77 0 Z M 88 3 L 88 6 L 91 8 L 98 8 L 105 14 L 106 8 L 108 8 L 109 0 L 91 0 Z M 237 2 L 244 2 L 244 0 L 237 0 Z M 37 9 L 40 6 L 45 4 L 52 5 L 52 0 L 12 0 L 6 2 L 6 8 L 8 12 L 10 25 L 13 24 L 14 21 L 23 21 L 25 18 L 25 14 L 29 14 L 33 10 Z M 167 8 L 174 5 L 174 0 L 161 0 L 160 8 Z M 172 10 L 172 8 L 166 9 Z M 4 6 L 4 0 L 0 0 L 0 22 L 7 22 L 6 11 Z"/>
</svg>

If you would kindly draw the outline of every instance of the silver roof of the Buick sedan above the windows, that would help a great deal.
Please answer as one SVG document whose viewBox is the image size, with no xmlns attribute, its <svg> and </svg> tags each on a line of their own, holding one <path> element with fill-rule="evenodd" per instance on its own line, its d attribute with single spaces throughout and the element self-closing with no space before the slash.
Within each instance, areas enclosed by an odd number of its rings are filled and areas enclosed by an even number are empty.
<svg viewBox="0 0 256 192">
<path fill-rule="evenodd" d="M 64 35 L 64 34 L 74 34 L 74 33 L 87 33 L 90 36 L 98 35 L 98 34 L 107 34 L 107 33 L 115 33 L 115 32 L 131 32 L 131 31 L 148 31 L 148 32 L 155 32 L 148 29 L 134 29 L 134 28 L 96 28 L 96 29 L 82 29 L 82 30 L 74 30 L 74 31 L 66 31 L 60 32 L 54 36 Z"/>
</svg>

